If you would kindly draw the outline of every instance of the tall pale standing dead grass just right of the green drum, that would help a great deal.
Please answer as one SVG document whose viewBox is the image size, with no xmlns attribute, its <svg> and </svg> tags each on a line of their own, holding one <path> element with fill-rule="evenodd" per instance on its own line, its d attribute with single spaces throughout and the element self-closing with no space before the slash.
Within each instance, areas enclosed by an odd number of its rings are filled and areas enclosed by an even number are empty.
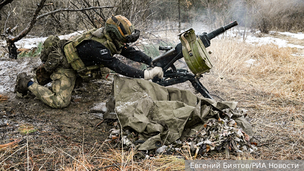
<svg viewBox="0 0 304 171">
<path fill-rule="evenodd" d="M 237 76 L 266 92 L 302 99 L 303 53 L 296 48 L 269 44 L 252 46 L 235 39 L 214 40 L 209 48 L 212 72 L 219 76 Z"/>
</svg>

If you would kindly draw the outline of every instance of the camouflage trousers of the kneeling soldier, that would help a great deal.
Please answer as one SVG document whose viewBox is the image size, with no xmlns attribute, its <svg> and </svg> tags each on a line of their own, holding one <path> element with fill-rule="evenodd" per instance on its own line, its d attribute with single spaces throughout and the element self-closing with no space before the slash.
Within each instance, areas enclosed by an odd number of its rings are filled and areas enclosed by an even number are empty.
<svg viewBox="0 0 304 171">
<path fill-rule="evenodd" d="M 76 80 L 75 71 L 57 67 L 51 79 L 53 80 L 52 90 L 38 83 L 33 83 L 28 89 L 50 107 L 64 108 L 71 99 Z"/>
</svg>

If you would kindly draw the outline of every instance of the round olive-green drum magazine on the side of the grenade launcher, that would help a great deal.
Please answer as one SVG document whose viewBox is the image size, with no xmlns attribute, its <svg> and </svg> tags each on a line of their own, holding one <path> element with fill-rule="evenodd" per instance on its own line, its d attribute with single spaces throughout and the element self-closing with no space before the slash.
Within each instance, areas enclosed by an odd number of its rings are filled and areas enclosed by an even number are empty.
<svg viewBox="0 0 304 171">
<path fill-rule="evenodd" d="M 201 39 L 196 37 L 195 31 L 191 28 L 178 36 L 182 44 L 182 54 L 191 72 L 196 77 L 210 72 L 212 64 L 209 54 Z"/>
</svg>

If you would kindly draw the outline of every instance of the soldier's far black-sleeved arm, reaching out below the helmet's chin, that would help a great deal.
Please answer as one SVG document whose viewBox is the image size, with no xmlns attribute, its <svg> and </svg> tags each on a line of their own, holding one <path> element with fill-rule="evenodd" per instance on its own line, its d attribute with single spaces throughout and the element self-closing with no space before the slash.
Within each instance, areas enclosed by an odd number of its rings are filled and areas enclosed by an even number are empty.
<svg viewBox="0 0 304 171">
<path fill-rule="evenodd" d="M 142 51 L 130 47 L 128 44 L 123 47 L 121 55 L 136 62 L 145 63 L 150 65 L 152 59 Z"/>
</svg>

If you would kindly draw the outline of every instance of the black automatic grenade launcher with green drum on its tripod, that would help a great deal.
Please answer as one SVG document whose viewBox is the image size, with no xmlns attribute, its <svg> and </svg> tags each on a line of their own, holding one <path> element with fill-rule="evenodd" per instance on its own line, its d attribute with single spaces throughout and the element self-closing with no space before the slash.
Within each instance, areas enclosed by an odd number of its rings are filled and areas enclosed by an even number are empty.
<svg viewBox="0 0 304 171">
<path fill-rule="evenodd" d="M 172 49 L 171 46 L 160 46 L 159 49 L 166 50 L 166 53 L 155 57 L 152 60 L 152 64 L 154 66 L 162 67 L 164 78 L 155 78 L 153 79 L 153 82 L 162 86 L 169 86 L 190 81 L 193 87 L 205 98 L 213 99 L 208 90 L 199 81 L 201 75 L 210 72 L 210 69 L 212 68 L 206 48 L 210 46 L 211 39 L 221 35 L 227 29 L 236 25 L 238 25 L 238 22 L 234 21 L 209 33 L 204 32 L 199 36 L 196 36 L 195 31 L 191 28 L 178 35 L 181 43 L 177 44 L 174 49 Z M 189 73 L 187 70 L 176 69 L 174 62 L 181 58 L 185 59 L 187 66 L 193 74 Z"/>
</svg>

